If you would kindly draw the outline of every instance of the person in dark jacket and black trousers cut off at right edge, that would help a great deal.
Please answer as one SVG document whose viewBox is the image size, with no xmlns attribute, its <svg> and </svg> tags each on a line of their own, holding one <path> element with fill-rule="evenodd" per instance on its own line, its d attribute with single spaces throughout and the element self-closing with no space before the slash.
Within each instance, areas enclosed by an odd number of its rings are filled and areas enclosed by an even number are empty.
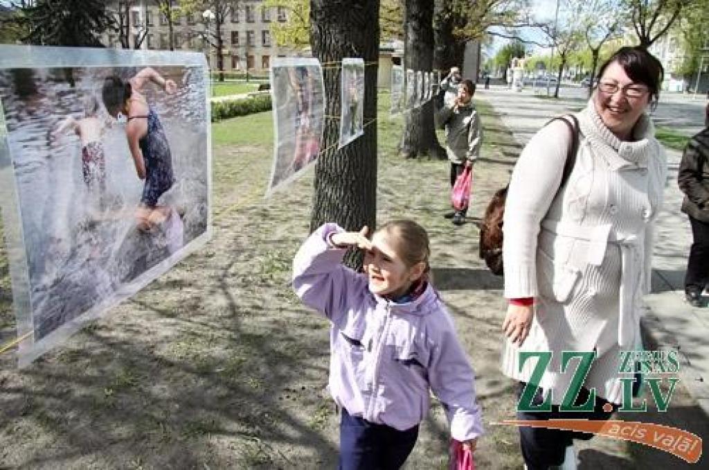
<svg viewBox="0 0 709 470">
<path fill-rule="evenodd" d="M 682 154 L 677 181 L 684 193 L 682 212 L 692 225 L 684 292 L 687 302 L 701 307 L 702 291 L 709 284 L 709 124 L 693 136 Z"/>
</svg>

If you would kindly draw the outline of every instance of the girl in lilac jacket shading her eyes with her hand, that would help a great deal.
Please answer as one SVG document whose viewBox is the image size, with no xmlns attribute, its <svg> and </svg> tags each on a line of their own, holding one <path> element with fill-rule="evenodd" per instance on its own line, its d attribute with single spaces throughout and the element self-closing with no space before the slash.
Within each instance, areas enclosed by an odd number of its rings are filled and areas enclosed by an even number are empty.
<svg viewBox="0 0 709 470">
<path fill-rule="evenodd" d="M 365 250 L 364 273 L 342 266 Z M 418 424 L 441 400 L 453 439 L 474 449 L 482 434 L 474 373 L 452 319 L 427 282 L 428 235 L 415 222 L 345 232 L 325 224 L 293 262 L 298 297 L 332 322 L 330 393 L 342 408 L 340 469 L 398 469 Z"/>
</svg>

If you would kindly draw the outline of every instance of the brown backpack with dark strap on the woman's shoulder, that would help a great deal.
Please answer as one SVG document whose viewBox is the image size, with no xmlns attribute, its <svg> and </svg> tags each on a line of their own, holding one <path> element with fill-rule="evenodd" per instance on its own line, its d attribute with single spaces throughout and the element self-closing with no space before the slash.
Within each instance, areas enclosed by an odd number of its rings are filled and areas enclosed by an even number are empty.
<svg viewBox="0 0 709 470">
<path fill-rule="evenodd" d="M 566 116 L 555 117 L 551 121 L 563 121 L 566 126 L 569 126 L 571 131 L 571 143 L 569 143 L 569 151 L 566 153 L 566 163 L 564 163 L 564 173 L 562 173 L 562 182 L 559 187 L 564 187 L 566 180 L 571 175 L 571 170 L 574 169 L 576 163 L 576 151 L 579 147 L 579 121 L 573 114 L 568 115 L 574 124 L 569 123 Z M 545 126 L 547 125 L 545 124 Z M 505 217 L 505 202 L 507 201 L 507 190 L 510 187 L 508 184 L 501 190 L 497 190 L 489 202 L 485 215 L 480 226 L 480 258 L 485 260 L 485 264 L 490 268 L 494 275 L 503 275 L 503 260 L 502 260 L 502 243 L 503 243 L 503 218 Z"/>
</svg>

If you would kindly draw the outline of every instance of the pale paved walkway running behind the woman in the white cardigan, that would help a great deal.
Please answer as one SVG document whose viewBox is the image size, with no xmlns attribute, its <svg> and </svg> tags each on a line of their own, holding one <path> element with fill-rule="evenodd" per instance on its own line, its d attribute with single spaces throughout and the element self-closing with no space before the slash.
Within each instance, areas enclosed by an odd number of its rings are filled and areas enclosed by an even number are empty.
<svg viewBox="0 0 709 470">
<path fill-rule="evenodd" d="M 479 89 L 477 93 L 479 98 L 488 101 L 501 114 L 503 122 L 513 133 L 515 143 L 510 142 L 510 148 L 517 152 L 551 117 L 584 106 L 579 97 L 542 99 L 535 97 L 529 88 L 523 92 L 512 92 L 504 87 L 493 87 Z M 562 96 L 565 94 L 562 93 Z M 657 107 L 655 120 L 671 119 L 673 113 L 683 107 L 692 110 L 696 116 L 697 109 L 703 112 L 703 104 L 668 99 Z M 688 131 L 690 126 L 681 129 Z M 683 300 L 683 277 L 691 244 L 691 229 L 687 217 L 680 212 L 682 193 L 676 184 L 680 159 L 680 152 L 667 150 L 669 175 L 664 207 L 657 223 L 652 263 L 653 293 L 646 299 L 649 311 L 644 327 L 649 341 L 679 349 L 683 359 L 682 383 L 709 414 L 709 346 L 706 341 L 709 336 L 709 308 L 693 308 Z"/>
</svg>

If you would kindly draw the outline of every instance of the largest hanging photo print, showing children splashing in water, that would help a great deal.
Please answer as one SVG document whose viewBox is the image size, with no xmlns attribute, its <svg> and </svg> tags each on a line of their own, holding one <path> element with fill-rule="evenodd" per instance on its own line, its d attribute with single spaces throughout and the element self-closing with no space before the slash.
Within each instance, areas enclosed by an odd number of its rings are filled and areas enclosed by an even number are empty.
<svg viewBox="0 0 709 470">
<path fill-rule="evenodd" d="M 209 83 L 199 53 L 0 51 L 22 366 L 208 239 Z"/>
</svg>

